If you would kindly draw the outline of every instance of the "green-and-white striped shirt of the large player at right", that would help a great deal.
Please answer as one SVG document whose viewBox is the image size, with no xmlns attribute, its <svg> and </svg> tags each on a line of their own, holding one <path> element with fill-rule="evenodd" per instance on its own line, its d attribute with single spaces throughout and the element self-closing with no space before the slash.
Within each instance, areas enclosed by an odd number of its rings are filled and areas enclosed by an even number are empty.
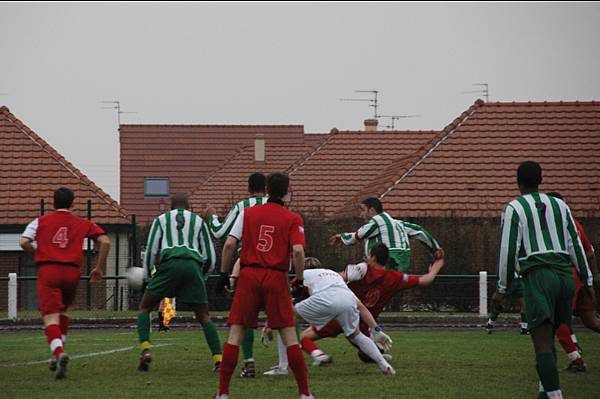
<svg viewBox="0 0 600 399">
<path fill-rule="evenodd" d="M 521 275 L 538 267 L 570 272 L 575 265 L 581 281 L 592 286 L 592 274 L 571 210 L 560 199 L 546 194 L 525 194 L 504 207 L 498 292 L 505 293 L 512 283 L 516 262 Z"/>
</svg>

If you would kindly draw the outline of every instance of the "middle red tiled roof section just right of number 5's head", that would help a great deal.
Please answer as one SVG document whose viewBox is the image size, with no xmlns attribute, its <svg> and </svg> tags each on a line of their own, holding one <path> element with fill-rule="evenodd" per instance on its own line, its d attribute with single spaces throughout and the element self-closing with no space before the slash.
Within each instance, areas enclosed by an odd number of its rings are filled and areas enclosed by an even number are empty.
<svg viewBox="0 0 600 399">
<path fill-rule="evenodd" d="M 393 162 L 426 145 L 437 132 L 333 130 L 306 159 L 290 169 L 291 207 L 331 217 Z"/>
</svg>

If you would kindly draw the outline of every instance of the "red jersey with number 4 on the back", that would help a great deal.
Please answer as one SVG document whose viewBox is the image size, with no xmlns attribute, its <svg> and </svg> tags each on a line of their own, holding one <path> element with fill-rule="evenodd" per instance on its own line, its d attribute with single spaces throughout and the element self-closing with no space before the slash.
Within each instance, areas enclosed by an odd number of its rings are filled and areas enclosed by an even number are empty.
<svg viewBox="0 0 600 399">
<path fill-rule="evenodd" d="M 83 240 L 104 234 L 95 223 L 59 210 L 29 223 L 23 237 L 37 242 L 35 263 L 81 266 Z"/>
</svg>

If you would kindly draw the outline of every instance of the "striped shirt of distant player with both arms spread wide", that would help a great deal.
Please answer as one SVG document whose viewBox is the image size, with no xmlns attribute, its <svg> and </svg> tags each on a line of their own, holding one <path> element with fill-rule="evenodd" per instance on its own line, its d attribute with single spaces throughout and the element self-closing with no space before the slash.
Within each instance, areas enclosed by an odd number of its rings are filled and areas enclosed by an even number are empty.
<svg viewBox="0 0 600 399">
<path fill-rule="evenodd" d="M 433 236 L 418 224 L 394 219 L 387 212 L 373 216 L 355 233 L 342 233 L 341 238 L 345 245 L 365 240 L 366 256 L 370 256 L 371 248 L 379 243 L 383 243 L 390 251 L 410 251 L 409 238 L 421 241 L 432 253 L 440 247 Z"/>
</svg>

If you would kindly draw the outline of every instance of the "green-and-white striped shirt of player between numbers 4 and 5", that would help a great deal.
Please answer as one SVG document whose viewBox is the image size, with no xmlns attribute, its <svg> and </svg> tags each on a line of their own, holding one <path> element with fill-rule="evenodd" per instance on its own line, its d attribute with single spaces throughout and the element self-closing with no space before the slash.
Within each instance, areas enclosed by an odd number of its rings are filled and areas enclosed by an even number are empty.
<svg viewBox="0 0 600 399">
<path fill-rule="evenodd" d="M 196 260 L 206 275 L 214 269 L 215 247 L 200 216 L 185 209 L 173 209 L 154 219 L 144 256 L 144 276 L 152 274 L 156 263 L 171 258 Z"/>
</svg>

